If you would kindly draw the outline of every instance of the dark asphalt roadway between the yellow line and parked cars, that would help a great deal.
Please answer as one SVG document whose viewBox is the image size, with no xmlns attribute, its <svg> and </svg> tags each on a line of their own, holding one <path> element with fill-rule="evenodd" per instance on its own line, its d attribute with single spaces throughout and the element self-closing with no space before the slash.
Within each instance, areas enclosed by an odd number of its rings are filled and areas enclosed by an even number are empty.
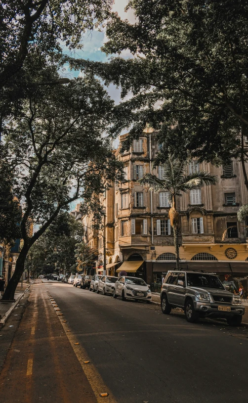
<svg viewBox="0 0 248 403">
<path fill-rule="evenodd" d="M 62 283 L 50 292 L 118 403 L 248 402 L 247 329 Z"/>
</svg>

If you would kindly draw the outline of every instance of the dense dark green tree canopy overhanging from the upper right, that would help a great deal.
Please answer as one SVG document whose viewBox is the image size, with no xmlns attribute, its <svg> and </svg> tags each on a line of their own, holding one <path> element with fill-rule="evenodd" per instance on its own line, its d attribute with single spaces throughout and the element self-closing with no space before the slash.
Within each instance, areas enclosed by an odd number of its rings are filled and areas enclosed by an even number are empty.
<svg viewBox="0 0 248 403">
<path fill-rule="evenodd" d="M 134 24 L 113 13 L 107 27 L 107 54 L 129 49 L 133 58 L 109 63 L 72 61 L 93 69 L 133 97 L 118 107 L 133 125 L 132 137 L 146 123 L 164 143 L 160 157 L 175 150 L 200 160 L 248 157 L 248 4 L 242 0 L 131 0 Z M 126 124 L 126 122 L 124 122 Z M 235 151 L 234 151 L 235 150 Z"/>
</svg>

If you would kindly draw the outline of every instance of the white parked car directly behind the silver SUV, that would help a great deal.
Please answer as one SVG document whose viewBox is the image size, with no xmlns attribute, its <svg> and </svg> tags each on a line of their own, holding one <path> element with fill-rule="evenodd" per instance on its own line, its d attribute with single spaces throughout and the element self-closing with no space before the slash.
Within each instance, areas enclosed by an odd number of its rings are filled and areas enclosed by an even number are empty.
<svg viewBox="0 0 248 403">
<path fill-rule="evenodd" d="M 113 297 L 122 297 L 134 300 L 145 300 L 149 303 L 152 299 L 152 292 L 142 278 L 121 276 L 115 283 Z"/>
</svg>

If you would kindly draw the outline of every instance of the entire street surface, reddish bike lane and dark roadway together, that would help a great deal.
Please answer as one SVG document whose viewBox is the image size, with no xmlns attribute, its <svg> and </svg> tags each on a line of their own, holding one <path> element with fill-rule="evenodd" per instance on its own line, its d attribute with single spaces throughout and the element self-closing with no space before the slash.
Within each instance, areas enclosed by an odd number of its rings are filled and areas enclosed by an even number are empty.
<svg viewBox="0 0 248 403">
<path fill-rule="evenodd" d="M 247 336 L 245 327 L 190 324 L 156 305 L 38 280 L 3 366 L 0 402 L 246 402 Z"/>
</svg>

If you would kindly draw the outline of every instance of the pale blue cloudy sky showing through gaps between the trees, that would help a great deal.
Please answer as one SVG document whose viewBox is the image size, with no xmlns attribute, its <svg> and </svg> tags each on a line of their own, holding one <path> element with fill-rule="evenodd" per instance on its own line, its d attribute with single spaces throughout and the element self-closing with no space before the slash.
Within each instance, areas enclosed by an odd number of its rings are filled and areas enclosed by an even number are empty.
<svg viewBox="0 0 248 403">
<path fill-rule="evenodd" d="M 128 10 L 127 12 L 124 11 L 125 6 L 127 5 L 128 0 L 114 0 L 113 4 L 113 11 L 117 11 L 118 14 L 122 19 L 128 19 L 130 23 L 135 22 L 135 16 L 132 12 L 132 10 Z M 107 57 L 105 53 L 101 51 L 101 46 L 107 42 L 107 37 L 106 33 L 103 32 L 98 32 L 97 30 L 86 32 L 83 37 L 82 37 L 82 42 L 83 42 L 83 49 L 82 50 L 77 50 L 75 57 L 76 58 L 83 58 L 83 59 L 89 59 L 93 61 L 108 61 L 109 56 Z M 64 49 L 64 52 L 67 52 L 67 49 Z M 124 51 L 121 54 L 122 57 L 128 58 L 132 57 L 131 54 L 128 51 Z M 61 76 L 63 77 L 68 77 L 70 79 L 73 79 L 74 77 L 78 77 L 80 75 L 79 71 L 70 71 L 68 67 L 65 68 L 65 70 L 61 71 Z M 116 88 L 114 85 L 110 85 L 108 88 L 108 93 L 111 96 L 112 99 L 118 104 L 121 102 L 121 97 L 120 93 L 121 90 Z M 124 99 L 127 99 L 130 97 L 130 95 L 127 95 Z M 118 145 L 118 140 L 116 140 L 115 146 Z M 70 205 L 70 211 L 72 211 L 75 207 L 76 204 L 79 203 L 80 200 L 76 200 L 75 202 L 71 203 Z"/>
</svg>

